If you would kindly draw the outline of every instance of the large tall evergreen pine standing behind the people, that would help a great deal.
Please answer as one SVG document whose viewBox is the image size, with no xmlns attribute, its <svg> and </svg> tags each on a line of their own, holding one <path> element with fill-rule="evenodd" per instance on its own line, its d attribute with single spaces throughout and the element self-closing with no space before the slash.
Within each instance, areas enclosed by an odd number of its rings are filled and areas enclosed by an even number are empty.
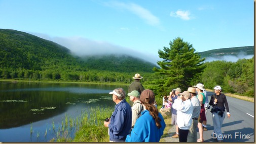
<svg viewBox="0 0 256 144">
<path fill-rule="evenodd" d="M 204 69 L 202 65 L 205 58 L 195 52 L 192 44 L 183 41 L 182 38 L 177 37 L 169 42 L 170 47 L 164 47 L 163 50 L 158 50 L 162 61 L 157 64 L 160 69 L 154 67 L 157 76 L 163 76 L 161 79 L 151 82 L 157 86 L 151 87 L 157 95 L 164 96 L 169 94 L 171 89 L 181 88 L 186 91 L 191 84 L 196 74 L 201 73 Z"/>
</svg>

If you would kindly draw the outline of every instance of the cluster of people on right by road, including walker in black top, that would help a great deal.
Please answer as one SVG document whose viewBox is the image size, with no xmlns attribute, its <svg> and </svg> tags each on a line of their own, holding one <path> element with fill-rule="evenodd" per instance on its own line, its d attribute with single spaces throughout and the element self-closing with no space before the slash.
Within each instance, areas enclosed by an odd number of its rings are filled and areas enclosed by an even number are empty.
<svg viewBox="0 0 256 144">
<path fill-rule="evenodd" d="M 203 131 L 207 130 L 206 112 L 209 103 L 212 106 L 213 133 L 218 135 L 219 142 L 223 141 L 221 127 L 225 118 L 225 109 L 227 109 L 228 118 L 230 117 L 229 106 L 226 96 L 221 94 L 222 88 L 216 86 L 213 89 L 215 94 L 211 96 L 210 102 L 201 83 L 189 87 L 183 93 L 179 88 L 170 92 L 168 100 L 172 102 L 172 124 L 176 125 L 173 138 L 179 138 L 180 142 L 203 142 Z M 196 128 L 199 131 L 199 139 L 197 139 Z"/>
</svg>

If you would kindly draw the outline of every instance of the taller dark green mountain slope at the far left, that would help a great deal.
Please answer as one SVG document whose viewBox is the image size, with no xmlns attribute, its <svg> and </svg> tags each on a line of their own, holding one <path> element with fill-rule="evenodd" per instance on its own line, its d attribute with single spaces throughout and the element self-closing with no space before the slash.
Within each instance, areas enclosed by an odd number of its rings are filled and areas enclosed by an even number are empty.
<svg viewBox="0 0 256 144">
<path fill-rule="evenodd" d="M 46 70 L 67 69 L 67 65 L 79 66 L 80 62 L 66 47 L 28 33 L 0 29 L 1 68 Z"/>
</svg>

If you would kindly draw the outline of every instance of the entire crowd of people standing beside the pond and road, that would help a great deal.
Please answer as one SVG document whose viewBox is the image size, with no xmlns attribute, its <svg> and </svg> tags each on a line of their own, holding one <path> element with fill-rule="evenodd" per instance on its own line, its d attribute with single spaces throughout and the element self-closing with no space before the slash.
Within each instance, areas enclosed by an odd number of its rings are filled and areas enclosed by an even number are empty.
<svg viewBox="0 0 256 144">
<path fill-rule="evenodd" d="M 109 141 L 159 142 L 163 135 L 165 121 L 155 106 L 154 92 L 145 90 L 139 82 L 142 78 L 139 74 L 135 74 L 134 82 L 129 85 L 127 95 L 133 102 L 132 107 L 125 100 L 124 89 L 117 88 L 109 93 L 113 95 L 113 101 L 116 103 L 111 118 L 109 121 L 104 121 L 104 126 L 108 127 Z M 201 83 L 189 87 L 182 93 L 180 88 L 173 89 L 168 97 L 163 98 L 162 108 L 171 108 L 171 124 L 176 126 L 173 138 L 179 138 L 180 142 L 203 142 L 203 131 L 207 130 L 208 103 L 212 106 L 213 132 L 222 135 L 225 109 L 230 117 L 229 107 L 226 96 L 221 93 L 222 88 L 216 86 L 213 89 L 215 94 L 211 96 L 210 102 Z M 199 130 L 199 139 L 196 128 Z M 217 140 L 223 141 L 223 138 L 217 136 Z"/>
</svg>

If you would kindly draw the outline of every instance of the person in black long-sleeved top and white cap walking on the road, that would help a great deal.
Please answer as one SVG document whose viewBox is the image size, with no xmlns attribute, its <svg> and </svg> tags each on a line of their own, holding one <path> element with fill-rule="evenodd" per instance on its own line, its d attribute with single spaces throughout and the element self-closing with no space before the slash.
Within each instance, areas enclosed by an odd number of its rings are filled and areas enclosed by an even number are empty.
<svg viewBox="0 0 256 144">
<path fill-rule="evenodd" d="M 213 121 L 213 133 L 212 137 L 217 137 L 219 142 L 223 142 L 222 137 L 222 124 L 225 119 L 225 109 L 227 109 L 227 116 L 230 118 L 229 104 L 227 98 L 222 94 L 222 87 L 215 86 L 214 95 L 211 96 L 209 104 L 212 106 L 212 121 Z M 225 104 L 225 106 L 224 106 Z M 226 108 L 225 108 L 226 107 Z"/>
</svg>

